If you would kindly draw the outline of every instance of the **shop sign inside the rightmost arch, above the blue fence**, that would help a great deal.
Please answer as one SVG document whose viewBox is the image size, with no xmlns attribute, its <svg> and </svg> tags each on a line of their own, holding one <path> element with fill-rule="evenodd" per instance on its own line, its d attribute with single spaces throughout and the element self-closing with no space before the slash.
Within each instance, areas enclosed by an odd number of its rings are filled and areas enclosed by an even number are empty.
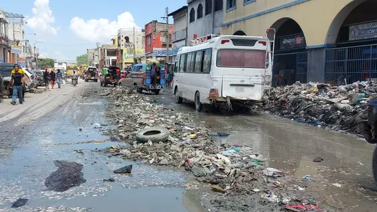
<svg viewBox="0 0 377 212">
<path fill-rule="evenodd" d="M 377 38 L 377 22 L 349 26 L 349 41 Z"/>
</svg>

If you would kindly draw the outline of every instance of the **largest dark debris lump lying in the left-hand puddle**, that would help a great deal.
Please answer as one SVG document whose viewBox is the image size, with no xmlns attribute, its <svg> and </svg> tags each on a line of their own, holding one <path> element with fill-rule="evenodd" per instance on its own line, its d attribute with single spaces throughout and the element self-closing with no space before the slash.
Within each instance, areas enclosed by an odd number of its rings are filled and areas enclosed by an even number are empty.
<svg viewBox="0 0 377 212">
<path fill-rule="evenodd" d="M 65 160 L 55 160 L 54 165 L 58 169 L 50 174 L 45 180 L 47 189 L 57 192 L 67 191 L 71 187 L 78 187 L 86 182 L 83 178 L 83 165 L 77 162 L 67 162 Z"/>
</svg>

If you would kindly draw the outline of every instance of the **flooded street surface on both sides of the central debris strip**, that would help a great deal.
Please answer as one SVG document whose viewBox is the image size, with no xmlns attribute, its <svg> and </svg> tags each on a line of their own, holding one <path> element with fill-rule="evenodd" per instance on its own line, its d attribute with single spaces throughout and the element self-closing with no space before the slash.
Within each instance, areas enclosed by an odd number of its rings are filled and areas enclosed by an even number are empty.
<svg viewBox="0 0 377 212">
<path fill-rule="evenodd" d="M 144 165 L 98 151 L 125 145 L 104 134 L 116 126 L 105 116 L 111 103 L 100 92 L 98 83 L 80 81 L 74 89 L 65 85 L 61 91 L 40 94 L 50 100 L 45 107 L 27 98 L 25 112 L 8 114 L 0 123 L 0 211 L 206 211 L 201 204 L 210 204 L 210 189 L 188 190 L 192 177 L 183 169 Z M 193 115 L 213 132 L 229 133 L 215 138 L 218 145 L 247 145 L 268 158 L 266 167 L 285 171 L 293 176 L 292 182 L 303 182 L 321 205 L 375 211 L 377 193 L 367 189 L 374 186 L 374 146 L 363 139 L 268 114 L 198 114 L 191 103 L 176 105 L 168 92 L 149 96 Z M 313 162 L 316 157 L 323 161 Z M 83 165 L 86 182 L 65 192 L 48 191 L 45 179 L 57 169 L 54 160 Z M 133 165 L 131 174 L 113 172 L 125 165 Z M 103 181 L 109 178 L 115 182 Z M 11 209 L 19 198 L 28 203 Z"/>
</svg>

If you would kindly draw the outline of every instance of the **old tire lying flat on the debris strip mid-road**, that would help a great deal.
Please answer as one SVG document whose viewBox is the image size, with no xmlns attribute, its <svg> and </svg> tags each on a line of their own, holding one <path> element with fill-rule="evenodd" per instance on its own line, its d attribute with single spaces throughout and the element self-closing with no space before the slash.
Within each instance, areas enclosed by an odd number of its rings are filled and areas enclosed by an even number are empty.
<svg viewBox="0 0 377 212">
<path fill-rule="evenodd" d="M 163 142 L 169 138 L 169 131 L 165 127 L 149 127 L 138 131 L 136 140 L 138 142 Z"/>
</svg>

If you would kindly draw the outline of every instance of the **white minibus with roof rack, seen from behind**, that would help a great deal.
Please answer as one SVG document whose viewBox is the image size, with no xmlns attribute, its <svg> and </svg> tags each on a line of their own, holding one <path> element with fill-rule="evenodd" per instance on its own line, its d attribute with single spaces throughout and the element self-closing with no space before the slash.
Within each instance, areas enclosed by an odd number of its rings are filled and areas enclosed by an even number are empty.
<svg viewBox="0 0 377 212">
<path fill-rule="evenodd" d="M 232 109 L 233 104 L 260 103 L 272 83 L 274 36 L 211 35 L 203 40 L 177 53 L 175 102 L 193 101 L 197 111 L 203 104 Z"/>
</svg>

